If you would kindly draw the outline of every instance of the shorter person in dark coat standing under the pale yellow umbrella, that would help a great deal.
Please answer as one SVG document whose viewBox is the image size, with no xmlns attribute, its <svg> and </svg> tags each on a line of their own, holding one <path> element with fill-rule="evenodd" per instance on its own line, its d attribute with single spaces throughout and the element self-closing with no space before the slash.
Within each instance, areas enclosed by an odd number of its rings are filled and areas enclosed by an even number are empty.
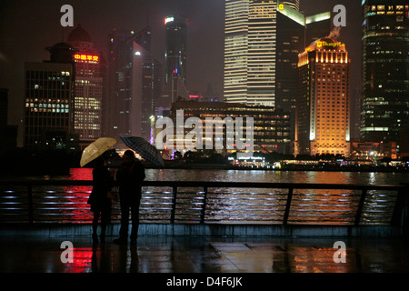
<svg viewBox="0 0 409 291">
<path fill-rule="evenodd" d="M 109 192 L 114 186 L 114 177 L 107 168 L 107 161 L 100 156 L 95 160 L 93 169 L 93 190 L 88 198 L 88 204 L 91 205 L 91 211 L 94 212 L 93 218 L 93 240 L 98 241 L 96 233 L 98 221 L 101 217 L 101 242 L 105 242 L 105 231 L 111 219 L 112 201 Z"/>
</svg>

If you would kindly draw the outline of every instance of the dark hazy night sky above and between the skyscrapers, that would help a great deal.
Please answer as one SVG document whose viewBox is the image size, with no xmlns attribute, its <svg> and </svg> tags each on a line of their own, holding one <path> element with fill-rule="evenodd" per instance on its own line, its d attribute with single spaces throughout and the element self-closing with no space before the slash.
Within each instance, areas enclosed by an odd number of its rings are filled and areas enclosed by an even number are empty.
<svg viewBox="0 0 409 291">
<path fill-rule="evenodd" d="M 9 125 L 23 125 L 25 62 L 48 60 L 45 47 L 66 41 L 74 29 L 60 25 L 64 15 L 60 8 L 66 4 L 74 7 L 75 25 L 82 25 L 95 48 L 105 56 L 110 31 L 137 32 L 150 25 L 153 54 L 162 62 L 165 15 L 185 15 L 188 18 L 187 88 L 204 94 L 210 84 L 214 94 L 223 95 L 224 0 L 1 0 L 0 87 L 9 89 Z M 354 90 L 360 87 L 361 74 L 361 1 L 301 0 L 300 10 L 305 15 L 313 15 L 332 11 L 334 5 L 339 4 L 346 7 L 347 25 L 342 28 L 339 40 L 345 43 L 352 58 L 354 97 Z"/>
</svg>

